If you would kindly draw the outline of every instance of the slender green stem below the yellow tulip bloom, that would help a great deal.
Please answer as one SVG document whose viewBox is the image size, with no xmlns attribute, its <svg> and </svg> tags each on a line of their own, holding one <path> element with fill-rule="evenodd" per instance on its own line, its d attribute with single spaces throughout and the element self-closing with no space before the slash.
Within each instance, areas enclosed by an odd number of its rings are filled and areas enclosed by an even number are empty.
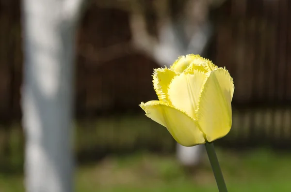
<svg viewBox="0 0 291 192">
<path fill-rule="evenodd" d="M 226 183 L 224 181 L 219 162 L 215 153 L 213 142 L 205 143 L 206 151 L 208 154 L 208 158 L 212 167 L 212 171 L 216 180 L 216 184 L 219 192 L 227 192 Z"/>
</svg>

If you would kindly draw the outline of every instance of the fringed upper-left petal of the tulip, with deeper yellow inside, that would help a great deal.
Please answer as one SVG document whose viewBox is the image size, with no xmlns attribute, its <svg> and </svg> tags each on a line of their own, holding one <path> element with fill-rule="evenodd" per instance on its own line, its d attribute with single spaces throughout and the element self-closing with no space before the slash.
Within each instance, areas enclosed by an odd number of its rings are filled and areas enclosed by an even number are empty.
<svg viewBox="0 0 291 192">
<path fill-rule="evenodd" d="M 168 103 L 168 86 L 177 74 L 170 69 L 158 68 L 154 70 L 153 84 L 160 101 Z"/>
</svg>

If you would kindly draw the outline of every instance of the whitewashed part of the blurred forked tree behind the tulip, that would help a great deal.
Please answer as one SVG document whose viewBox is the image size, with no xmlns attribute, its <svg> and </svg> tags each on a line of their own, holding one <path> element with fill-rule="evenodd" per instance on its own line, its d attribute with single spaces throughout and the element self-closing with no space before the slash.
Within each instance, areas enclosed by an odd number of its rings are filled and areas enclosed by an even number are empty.
<svg viewBox="0 0 291 192">
<path fill-rule="evenodd" d="M 177 27 L 176 27 L 177 28 Z M 154 51 L 154 58 L 161 65 L 169 67 L 173 60 L 180 55 L 199 54 L 201 55 L 208 44 L 211 36 L 211 26 L 209 23 L 202 25 L 191 37 L 189 44 L 182 44 L 177 33 L 174 32 L 175 26 L 164 25 L 160 31 L 160 44 Z M 200 162 L 205 148 L 203 145 L 194 147 L 184 147 L 177 143 L 178 161 L 189 167 L 195 167 Z"/>
</svg>

